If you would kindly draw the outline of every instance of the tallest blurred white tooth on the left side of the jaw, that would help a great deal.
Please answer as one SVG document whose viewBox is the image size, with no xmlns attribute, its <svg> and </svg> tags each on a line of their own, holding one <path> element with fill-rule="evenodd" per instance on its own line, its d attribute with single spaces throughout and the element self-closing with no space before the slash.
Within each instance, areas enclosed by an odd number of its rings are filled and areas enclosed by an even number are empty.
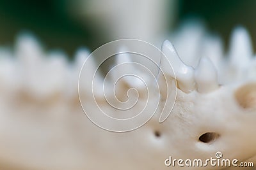
<svg viewBox="0 0 256 170">
<path fill-rule="evenodd" d="M 17 71 L 25 91 L 31 96 L 45 97 L 43 81 L 47 73 L 44 68 L 44 53 L 41 45 L 31 34 L 21 34 L 17 38 L 16 55 L 19 60 Z"/>
</svg>

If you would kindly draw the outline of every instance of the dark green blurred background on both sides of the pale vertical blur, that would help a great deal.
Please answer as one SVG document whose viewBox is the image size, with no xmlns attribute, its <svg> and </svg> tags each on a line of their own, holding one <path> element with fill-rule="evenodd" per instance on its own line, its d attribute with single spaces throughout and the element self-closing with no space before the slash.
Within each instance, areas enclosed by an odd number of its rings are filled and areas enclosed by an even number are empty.
<svg viewBox="0 0 256 170">
<path fill-rule="evenodd" d="M 79 0 L 76 0 L 79 1 Z M 9 0 L 0 1 L 0 45 L 13 45 L 20 31 L 30 31 L 45 45 L 46 49 L 61 48 L 72 56 L 79 46 L 90 50 L 105 42 L 100 28 L 81 22 L 70 14 L 68 0 Z M 177 1 L 177 15 L 173 28 L 188 17 L 204 20 L 207 29 L 220 34 L 227 47 L 234 26 L 243 25 L 256 38 L 255 0 L 194 0 Z M 255 46 L 254 46 L 255 47 Z"/>
</svg>

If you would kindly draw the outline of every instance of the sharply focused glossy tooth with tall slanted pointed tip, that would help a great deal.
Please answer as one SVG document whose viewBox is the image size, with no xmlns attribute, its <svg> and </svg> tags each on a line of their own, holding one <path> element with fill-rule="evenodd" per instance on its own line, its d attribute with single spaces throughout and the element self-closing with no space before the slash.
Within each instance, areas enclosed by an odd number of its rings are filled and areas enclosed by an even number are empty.
<svg viewBox="0 0 256 170">
<path fill-rule="evenodd" d="M 193 67 L 187 66 L 180 60 L 179 55 L 177 54 L 174 46 L 168 40 L 164 41 L 162 45 L 162 52 L 166 55 L 170 64 L 173 67 L 173 71 L 168 71 L 167 74 L 170 74 L 173 78 L 177 78 L 177 85 L 180 90 L 183 92 L 191 92 L 195 89 L 195 80 L 194 80 L 194 69 Z"/>
</svg>

